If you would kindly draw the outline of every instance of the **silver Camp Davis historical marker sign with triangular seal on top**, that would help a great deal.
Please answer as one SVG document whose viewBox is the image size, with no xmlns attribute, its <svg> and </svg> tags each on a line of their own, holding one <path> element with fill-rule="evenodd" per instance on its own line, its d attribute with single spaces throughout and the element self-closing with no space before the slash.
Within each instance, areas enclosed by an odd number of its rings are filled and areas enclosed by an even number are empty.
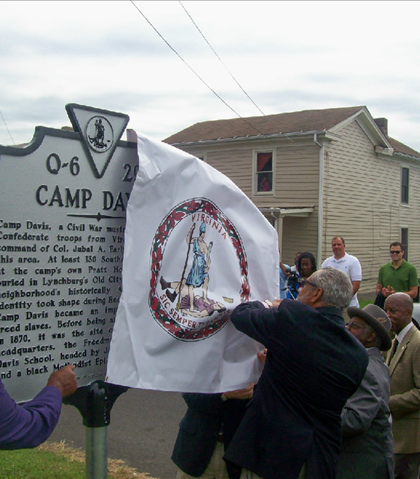
<svg viewBox="0 0 420 479">
<path fill-rule="evenodd" d="M 0 146 L 0 374 L 16 400 L 68 363 L 80 386 L 104 379 L 121 293 L 129 118 L 66 109 L 74 132 L 37 127 L 26 147 Z"/>
</svg>

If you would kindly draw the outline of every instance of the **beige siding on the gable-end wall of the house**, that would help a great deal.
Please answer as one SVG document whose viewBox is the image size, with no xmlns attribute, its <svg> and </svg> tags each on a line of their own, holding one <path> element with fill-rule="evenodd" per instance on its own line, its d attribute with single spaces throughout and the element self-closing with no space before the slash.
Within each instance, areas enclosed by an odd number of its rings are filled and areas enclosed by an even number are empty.
<svg viewBox="0 0 420 479">
<path fill-rule="evenodd" d="M 410 164 L 410 205 L 400 205 L 401 164 L 379 158 L 374 145 L 353 122 L 339 132 L 325 156 L 323 251 L 343 236 L 346 251 L 362 264 L 361 292 L 374 292 L 379 267 L 389 261 L 389 243 L 409 227 L 410 262 L 420 266 L 420 168 Z M 404 165 L 406 166 L 406 165 Z"/>
</svg>

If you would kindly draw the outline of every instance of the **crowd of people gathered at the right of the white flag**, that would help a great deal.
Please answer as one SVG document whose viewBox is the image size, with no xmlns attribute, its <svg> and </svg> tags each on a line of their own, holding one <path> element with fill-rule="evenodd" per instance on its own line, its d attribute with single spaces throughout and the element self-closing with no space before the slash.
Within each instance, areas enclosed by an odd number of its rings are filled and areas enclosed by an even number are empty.
<svg viewBox="0 0 420 479">
<path fill-rule="evenodd" d="M 177 479 L 419 479 L 420 331 L 415 267 L 400 242 L 360 309 L 359 260 L 342 237 L 317 270 L 280 262 L 280 300 L 237 306 L 233 325 L 266 348 L 256 385 L 184 394 Z"/>
</svg>

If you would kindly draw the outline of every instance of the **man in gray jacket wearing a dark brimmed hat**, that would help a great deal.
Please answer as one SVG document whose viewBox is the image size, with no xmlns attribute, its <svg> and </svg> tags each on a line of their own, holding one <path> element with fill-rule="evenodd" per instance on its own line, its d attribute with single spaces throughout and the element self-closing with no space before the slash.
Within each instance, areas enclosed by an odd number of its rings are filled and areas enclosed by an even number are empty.
<svg viewBox="0 0 420 479">
<path fill-rule="evenodd" d="M 391 347 L 391 321 L 379 306 L 348 308 L 347 329 L 366 348 L 365 376 L 341 414 L 343 445 L 337 479 L 392 479 L 390 378 L 381 351 Z"/>
</svg>

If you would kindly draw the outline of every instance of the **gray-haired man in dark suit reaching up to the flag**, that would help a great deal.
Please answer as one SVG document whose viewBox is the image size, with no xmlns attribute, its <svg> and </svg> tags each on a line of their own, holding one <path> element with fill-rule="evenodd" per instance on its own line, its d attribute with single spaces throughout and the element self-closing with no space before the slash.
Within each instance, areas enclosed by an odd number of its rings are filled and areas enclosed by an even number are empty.
<svg viewBox="0 0 420 479">
<path fill-rule="evenodd" d="M 341 411 L 368 364 L 341 315 L 352 296 L 348 276 L 325 268 L 301 282 L 297 301 L 254 301 L 232 312 L 234 326 L 268 349 L 254 398 L 225 454 L 243 477 L 335 477 Z"/>
</svg>

